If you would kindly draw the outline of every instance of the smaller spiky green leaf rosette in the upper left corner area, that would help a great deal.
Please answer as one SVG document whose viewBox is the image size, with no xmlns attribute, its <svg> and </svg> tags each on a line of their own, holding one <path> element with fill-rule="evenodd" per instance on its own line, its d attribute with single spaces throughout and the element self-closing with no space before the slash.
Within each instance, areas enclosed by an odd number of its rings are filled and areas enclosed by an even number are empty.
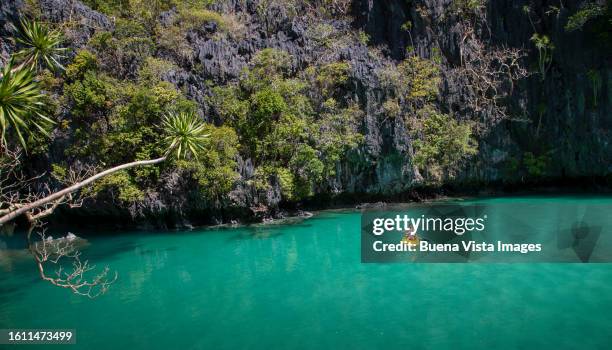
<svg viewBox="0 0 612 350">
<path fill-rule="evenodd" d="M 20 35 L 16 39 L 25 46 L 15 53 L 15 58 L 23 65 L 32 69 L 39 69 L 43 65 L 53 70 L 64 69 L 59 61 L 66 49 L 60 46 L 62 35 L 59 31 L 22 19 Z"/>
</svg>

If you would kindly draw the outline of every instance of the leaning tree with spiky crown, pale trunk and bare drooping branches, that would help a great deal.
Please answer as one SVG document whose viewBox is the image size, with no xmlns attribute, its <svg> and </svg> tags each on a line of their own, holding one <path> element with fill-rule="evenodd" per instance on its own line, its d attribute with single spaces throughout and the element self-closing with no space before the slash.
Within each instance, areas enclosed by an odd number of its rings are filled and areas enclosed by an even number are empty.
<svg viewBox="0 0 612 350">
<path fill-rule="evenodd" d="M 79 190 L 94 181 L 124 169 L 159 164 L 170 157 L 177 159 L 190 156 L 197 157 L 198 152 L 204 148 L 208 139 L 208 135 L 204 133 L 206 130 L 205 124 L 195 114 L 180 113 L 166 116 L 162 128 L 166 135 L 164 142 L 167 144 L 163 156 L 121 164 L 86 177 L 73 176 L 71 177 L 73 179 L 72 184 L 48 195 L 39 192 L 24 195 L 22 190 L 25 187 L 29 188 L 29 183 L 36 178 L 27 179 L 23 177 L 17 170 L 19 153 L 4 149 L 4 154 L 0 157 L 0 226 L 11 222 L 20 215 L 25 215 L 29 223 L 27 231 L 28 249 L 34 256 L 40 277 L 43 280 L 91 298 L 106 292 L 110 284 L 115 281 L 116 274 L 113 278 L 108 277 L 108 267 L 93 279 L 86 279 L 84 275 L 93 270 L 94 267 L 89 265 L 87 261 L 80 260 L 80 252 L 71 239 L 49 239 L 42 229 L 39 232 L 41 239 L 34 242 L 32 232 L 35 228 L 39 228 L 41 220 L 52 214 L 59 205 L 80 206 L 82 202 L 79 198 Z M 72 259 L 72 270 L 64 270 L 60 265 L 55 274 L 45 272 L 45 265 L 48 263 L 57 265 L 63 258 Z"/>
</svg>

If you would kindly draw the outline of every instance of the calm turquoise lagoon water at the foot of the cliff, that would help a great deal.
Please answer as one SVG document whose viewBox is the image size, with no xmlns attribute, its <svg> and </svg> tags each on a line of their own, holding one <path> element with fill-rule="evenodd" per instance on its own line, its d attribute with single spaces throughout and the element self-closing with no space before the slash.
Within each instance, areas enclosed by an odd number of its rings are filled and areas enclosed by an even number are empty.
<svg viewBox="0 0 612 350">
<path fill-rule="evenodd" d="M 4 256 L 0 328 L 74 328 L 73 349 L 611 347 L 610 264 L 361 264 L 359 226 L 348 211 L 290 225 L 99 232 L 84 254 L 119 279 L 94 300 Z"/>
</svg>

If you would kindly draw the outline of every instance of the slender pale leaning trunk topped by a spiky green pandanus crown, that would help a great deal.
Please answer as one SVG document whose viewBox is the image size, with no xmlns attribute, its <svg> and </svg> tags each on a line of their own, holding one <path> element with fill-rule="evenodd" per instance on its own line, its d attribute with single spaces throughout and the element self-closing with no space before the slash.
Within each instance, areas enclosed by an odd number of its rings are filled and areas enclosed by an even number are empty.
<svg viewBox="0 0 612 350">
<path fill-rule="evenodd" d="M 206 133 L 206 124 L 193 113 L 171 113 L 166 115 L 162 121 L 161 129 L 162 133 L 165 135 L 163 142 L 166 145 L 166 152 L 162 157 L 118 165 L 90 176 L 37 201 L 20 205 L 14 210 L 0 216 L 0 226 L 12 221 L 22 214 L 32 211 L 33 209 L 42 207 L 49 203 L 60 202 L 62 198 L 68 196 L 69 194 L 80 190 L 81 188 L 100 178 L 118 171 L 139 166 L 159 164 L 171 157 L 176 157 L 177 159 L 189 157 L 197 158 L 199 152 L 205 149 L 209 137 L 209 134 Z"/>
</svg>

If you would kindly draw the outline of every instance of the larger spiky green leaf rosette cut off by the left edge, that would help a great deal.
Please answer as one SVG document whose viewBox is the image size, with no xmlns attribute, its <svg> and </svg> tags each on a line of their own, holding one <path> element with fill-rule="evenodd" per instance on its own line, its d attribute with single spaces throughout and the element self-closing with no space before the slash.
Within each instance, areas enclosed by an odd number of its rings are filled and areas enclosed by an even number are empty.
<svg viewBox="0 0 612 350">
<path fill-rule="evenodd" d="M 47 127 L 53 121 L 43 113 L 42 93 L 34 80 L 34 73 L 27 68 L 13 69 L 13 60 L 4 66 L 0 78 L 0 135 L 7 144 L 6 132 L 13 127 L 21 145 L 26 148 L 24 135 L 34 131 L 48 135 Z"/>
</svg>

